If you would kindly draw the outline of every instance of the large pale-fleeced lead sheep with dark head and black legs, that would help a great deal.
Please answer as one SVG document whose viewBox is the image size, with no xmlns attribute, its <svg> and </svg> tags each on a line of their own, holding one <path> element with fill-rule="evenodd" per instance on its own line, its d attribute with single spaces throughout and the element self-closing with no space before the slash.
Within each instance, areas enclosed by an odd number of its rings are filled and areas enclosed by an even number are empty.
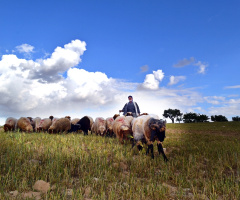
<svg viewBox="0 0 240 200">
<path fill-rule="evenodd" d="M 143 115 L 136 118 L 132 123 L 133 138 L 137 143 L 142 141 L 147 143 L 148 149 L 151 151 L 151 157 L 154 158 L 153 154 L 153 143 L 157 140 L 158 152 L 163 155 L 164 161 L 168 159 L 163 151 L 162 142 L 165 139 L 166 121 L 160 120 L 158 116 L 154 115 Z M 134 146 L 134 143 L 133 143 Z M 138 144 L 138 149 L 142 147 Z"/>
</svg>

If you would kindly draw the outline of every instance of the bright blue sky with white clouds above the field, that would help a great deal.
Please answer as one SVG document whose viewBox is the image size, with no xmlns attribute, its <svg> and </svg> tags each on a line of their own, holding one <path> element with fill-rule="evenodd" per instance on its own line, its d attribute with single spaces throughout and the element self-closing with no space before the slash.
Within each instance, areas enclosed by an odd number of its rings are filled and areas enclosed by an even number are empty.
<svg viewBox="0 0 240 200">
<path fill-rule="evenodd" d="M 0 0 L 7 117 L 240 116 L 238 0 Z M 169 121 L 170 122 L 170 121 Z"/>
</svg>

